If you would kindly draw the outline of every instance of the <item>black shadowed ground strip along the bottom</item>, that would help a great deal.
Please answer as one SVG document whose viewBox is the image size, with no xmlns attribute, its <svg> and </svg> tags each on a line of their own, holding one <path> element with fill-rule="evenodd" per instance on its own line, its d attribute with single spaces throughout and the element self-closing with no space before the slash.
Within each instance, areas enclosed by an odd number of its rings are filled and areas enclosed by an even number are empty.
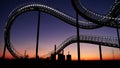
<svg viewBox="0 0 120 68">
<path fill-rule="evenodd" d="M 7 67 L 7 65 L 20 67 L 37 66 L 37 67 L 104 67 L 120 65 L 120 60 L 107 60 L 107 61 L 50 61 L 41 59 L 0 59 L 0 65 Z"/>
</svg>

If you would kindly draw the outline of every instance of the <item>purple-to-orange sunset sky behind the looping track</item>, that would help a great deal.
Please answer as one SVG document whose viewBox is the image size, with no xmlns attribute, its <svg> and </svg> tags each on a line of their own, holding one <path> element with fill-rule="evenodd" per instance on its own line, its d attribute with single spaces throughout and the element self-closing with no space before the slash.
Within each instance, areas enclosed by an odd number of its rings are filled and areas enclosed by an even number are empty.
<svg viewBox="0 0 120 68">
<path fill-rule="evenodd" d="M 81 0 L 88 9 L 106 15 L 114 0 Z M 56 8 L 70 16 L 75 17 L 75 10 L 71 0 L 0 0 L 0 57 L 4 48 L 4 28 L 9 13 L 17 6 L 27 2 L 39 2 Z M 14 48 L 24 55 L 26 53 L 30 58 L 35 57 L 36 35 L 37 35 L 38 11 L 29 11 L 16 18 L 11 29 L 11 43 Z M 84 20 L 79 16 L 80 20 Z M 86 21 L 86 20 L 85 20 Z M 98 29 L 82 29 L 80 34 L 113 36 L 116 37 L 116 29 L 110 27 L 101 27 Z M 60 45 L 68 37 L 76 35 L 76 28 L 58 18 L 41 12 L 40 37 L 39 37 L 39 56 L 43 56 L 54 49 L 54 45 Z M 89 43 L 80 43 L 82 60 L 99 60 L 99 46 Z M 65 48 L 64 54 L 68 51 L 72 59 L 77 60 L 77 44 L 71 44 Z M 120 59 L 120 49 L 102 46 L 103 59 Z M 6 58 L 13 58 L 7 51 Z"/>
</svg>

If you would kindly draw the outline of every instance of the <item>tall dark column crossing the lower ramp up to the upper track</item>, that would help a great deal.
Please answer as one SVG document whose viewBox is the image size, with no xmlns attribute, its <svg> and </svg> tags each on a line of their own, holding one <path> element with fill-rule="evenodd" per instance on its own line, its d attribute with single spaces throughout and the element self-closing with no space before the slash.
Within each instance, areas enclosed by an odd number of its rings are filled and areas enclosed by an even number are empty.
<svg viewBox="0 0 120 68">
<path fill-rule="evenodd" d="M 77 51 L 78 51 L 78 61 L 80 61 L 80 44 L 79 44 L 79 24 L 78 24 L 78 13 L 76 12 L 76 29 L 77 29 Z"/>
</svg>

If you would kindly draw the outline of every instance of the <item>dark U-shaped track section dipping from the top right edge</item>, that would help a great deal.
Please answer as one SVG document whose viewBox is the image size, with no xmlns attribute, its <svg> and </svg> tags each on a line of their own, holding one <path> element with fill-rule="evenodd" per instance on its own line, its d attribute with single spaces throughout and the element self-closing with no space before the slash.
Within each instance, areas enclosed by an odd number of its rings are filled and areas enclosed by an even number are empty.
<svg viewBox="0 0 120 68">
<path fill-rule="evenodd" d="M 108 27 L 114 27 L 114 28 L 120 27 L 120 23 L 119 23 L 120 18 L 117 18 L 117 16 L 120 14 L 120 11 L 119 11 L 120 1 L 118 2 L 115 1 L 114 5 L 112 6 L 111 10 L 106 16 L 103 16 L 95 12 L 92 12 L 91 10 L 88 10 L 81 4 L 80 0 L 72 0 L 72 4 L 75 10 L 78 11 L 78 13 L 82 17 L 84 17 L 85 19 L 93 23 L 103 25 L 103 26 L 108 26 Z M 116 21 L 118 21 L 117 25 L 116 25 Z"/>
</svg>

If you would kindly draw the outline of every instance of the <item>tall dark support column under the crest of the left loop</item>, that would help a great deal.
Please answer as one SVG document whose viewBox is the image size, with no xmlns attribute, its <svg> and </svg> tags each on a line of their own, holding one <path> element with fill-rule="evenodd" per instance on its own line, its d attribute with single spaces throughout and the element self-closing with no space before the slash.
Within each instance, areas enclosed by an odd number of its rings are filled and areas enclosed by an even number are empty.
<svg viewBox="0 0 120 68">
<path fill-rule="evenodd" d="M 36 59 L 38 59 L 38 58 L 39 58 L 39 56 L 38 56 L 39 29 L 40 29 L 40 12 L 38 12 L 37 40 L 36 40 Z"/>
</svg>

